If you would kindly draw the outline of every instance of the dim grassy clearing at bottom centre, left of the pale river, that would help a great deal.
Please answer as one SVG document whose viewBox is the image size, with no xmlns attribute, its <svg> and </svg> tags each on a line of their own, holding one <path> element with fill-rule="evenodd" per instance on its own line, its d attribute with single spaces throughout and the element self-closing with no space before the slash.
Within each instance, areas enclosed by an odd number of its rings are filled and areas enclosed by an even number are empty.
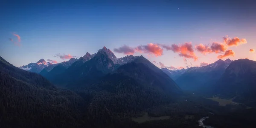
<svg viewBox="0 0 256 128">
<path fill-rule="evenodd" d="M 148 116 L 148 113 L 144 113 L 143 116 L 132 118 L 133 121 L 138 123 L 143 123 L 143 122 L 152 121 L 152 120 L 163 120 L 163 119 L 170 119 L 170 116 L 151 117 L 151 116 Z"/>
</svg>

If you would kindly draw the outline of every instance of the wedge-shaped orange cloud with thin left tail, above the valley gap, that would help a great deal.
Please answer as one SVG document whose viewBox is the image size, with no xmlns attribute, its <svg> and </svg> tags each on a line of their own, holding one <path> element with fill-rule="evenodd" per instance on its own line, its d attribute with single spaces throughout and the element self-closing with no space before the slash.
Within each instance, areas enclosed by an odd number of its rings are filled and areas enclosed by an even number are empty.
<svg viewBox="0 0 256 128">
<path fill-rule="evenodd" d="M 185 43 L 182 45 L 172 44 L 171 46 L 162 44 L 161 46 L 166 50 L 172 50 L 175 53 L 179 53 L 179 56 L 181 57 L 193 58 L 194 61 L 198 60 L 191 43 Z"/>
</svg>

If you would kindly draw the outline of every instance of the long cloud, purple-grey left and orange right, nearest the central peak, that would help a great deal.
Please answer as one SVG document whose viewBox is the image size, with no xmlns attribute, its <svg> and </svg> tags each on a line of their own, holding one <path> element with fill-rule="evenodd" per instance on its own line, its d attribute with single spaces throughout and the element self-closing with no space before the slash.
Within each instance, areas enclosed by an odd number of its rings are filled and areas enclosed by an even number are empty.
<svg viewBox="0 0 256 128">
<path fill-rule="evenodd" d="M 134 48 L 124 45 L 119 48 L 114 48 L 114 52 L 123 53 L 126 55 L 133 55 L 135 52 L 140 52 L 140 53 L 146 53 L 149 56 L 155 55 L 156 57 L 163 55 L 163 49 L 158 44 L 152 44 L 152 43 L 147 45 L 140 45 Z"/>
</svg>

